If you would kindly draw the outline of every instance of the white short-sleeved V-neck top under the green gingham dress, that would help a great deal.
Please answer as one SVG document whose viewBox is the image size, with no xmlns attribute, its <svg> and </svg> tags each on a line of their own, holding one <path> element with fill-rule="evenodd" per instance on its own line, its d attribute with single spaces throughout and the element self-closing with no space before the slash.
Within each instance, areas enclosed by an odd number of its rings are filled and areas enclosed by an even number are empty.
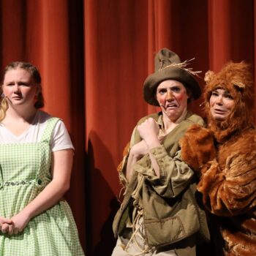
<svg viewBox="0 0 256 256">
<path fill-rule="evenodd" d="M 50 117 L 48 113 L 38 110 L 29 128 L 19 136 L 14 135 L 9 129 L 4 127 L 4 124 L 0 123 L 0 144 L 40 142 Z M 72 145 L 64 122 L 59 120 L 53 129 L 50 139 L 50 150 L 53 152 L 67 148 L 74 149 L 74 146 Z"/>
</svg>

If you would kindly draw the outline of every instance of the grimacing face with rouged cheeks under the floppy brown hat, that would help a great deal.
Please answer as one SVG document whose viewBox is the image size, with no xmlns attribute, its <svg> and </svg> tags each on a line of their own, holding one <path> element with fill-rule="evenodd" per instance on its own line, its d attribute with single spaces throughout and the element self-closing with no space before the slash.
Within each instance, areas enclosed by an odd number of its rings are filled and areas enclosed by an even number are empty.
<svg viewBox="0 0 256 256">
<path fill-rule="evenodd" d="M 164 115 L 176 121 L 187 110 L 187 89 L 176 80 L 165 80 L 157 87 L 157 102 Z"/>
</svg>

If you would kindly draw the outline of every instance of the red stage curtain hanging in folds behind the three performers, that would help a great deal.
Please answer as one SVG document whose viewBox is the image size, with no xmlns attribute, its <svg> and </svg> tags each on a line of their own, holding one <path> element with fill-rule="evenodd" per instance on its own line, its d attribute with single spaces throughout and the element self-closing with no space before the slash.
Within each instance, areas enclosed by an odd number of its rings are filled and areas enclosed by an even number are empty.
<svg viewBox="0 0 256 256">
<path fill-rule="evenodd" d="M 254 0 L 0 0 L 1 69 L 30 61 L 45 110 L 64 119 L 75 145 L 69 201 L 87 255 L 110 255 L 118 208 L 116 166 L 138 119 L 154 53 L 167 47 L 191 67 L 255 68 Z M 190 106 L 197 113 L 201 99 Z"/>
</svg>

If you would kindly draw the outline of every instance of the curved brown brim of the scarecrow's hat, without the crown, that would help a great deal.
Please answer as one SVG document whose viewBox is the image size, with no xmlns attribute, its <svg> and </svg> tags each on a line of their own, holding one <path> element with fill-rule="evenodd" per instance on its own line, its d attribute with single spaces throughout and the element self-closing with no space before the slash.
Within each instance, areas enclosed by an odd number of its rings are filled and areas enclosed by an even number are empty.
<svg viewBox="0 0 256 256">
<path fill-rule="evenodd" d="M 157 99 L 155 97 L 157 86 L 164 80 L 177 80 L 184 84 L 184 86 L 189 89 L 192 93 L 192 98 L 197 99 L 201 95 L 201 89 L 197 80 L 189 74 L 185 69 L 180 67 L 167 67 L 148 75 L 144 82 L 144 99 L 148 104 L 159 106 Z"/>
</svg>

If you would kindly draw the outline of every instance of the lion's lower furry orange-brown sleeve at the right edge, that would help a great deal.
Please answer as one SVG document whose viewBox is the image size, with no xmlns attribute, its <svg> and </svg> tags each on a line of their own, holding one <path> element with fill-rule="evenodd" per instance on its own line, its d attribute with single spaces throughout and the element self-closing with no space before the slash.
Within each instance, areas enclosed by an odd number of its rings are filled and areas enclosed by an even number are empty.
<svg viewBox="0 0 256 256">
<path fill-rule="evenodd" d="M 235 216 L 256 206 L 256 159 L 235 153 L 221 169 L 217 159 L 208 163 L 197 185 L 203 203 L 213 214 Z"/>
</svg>

